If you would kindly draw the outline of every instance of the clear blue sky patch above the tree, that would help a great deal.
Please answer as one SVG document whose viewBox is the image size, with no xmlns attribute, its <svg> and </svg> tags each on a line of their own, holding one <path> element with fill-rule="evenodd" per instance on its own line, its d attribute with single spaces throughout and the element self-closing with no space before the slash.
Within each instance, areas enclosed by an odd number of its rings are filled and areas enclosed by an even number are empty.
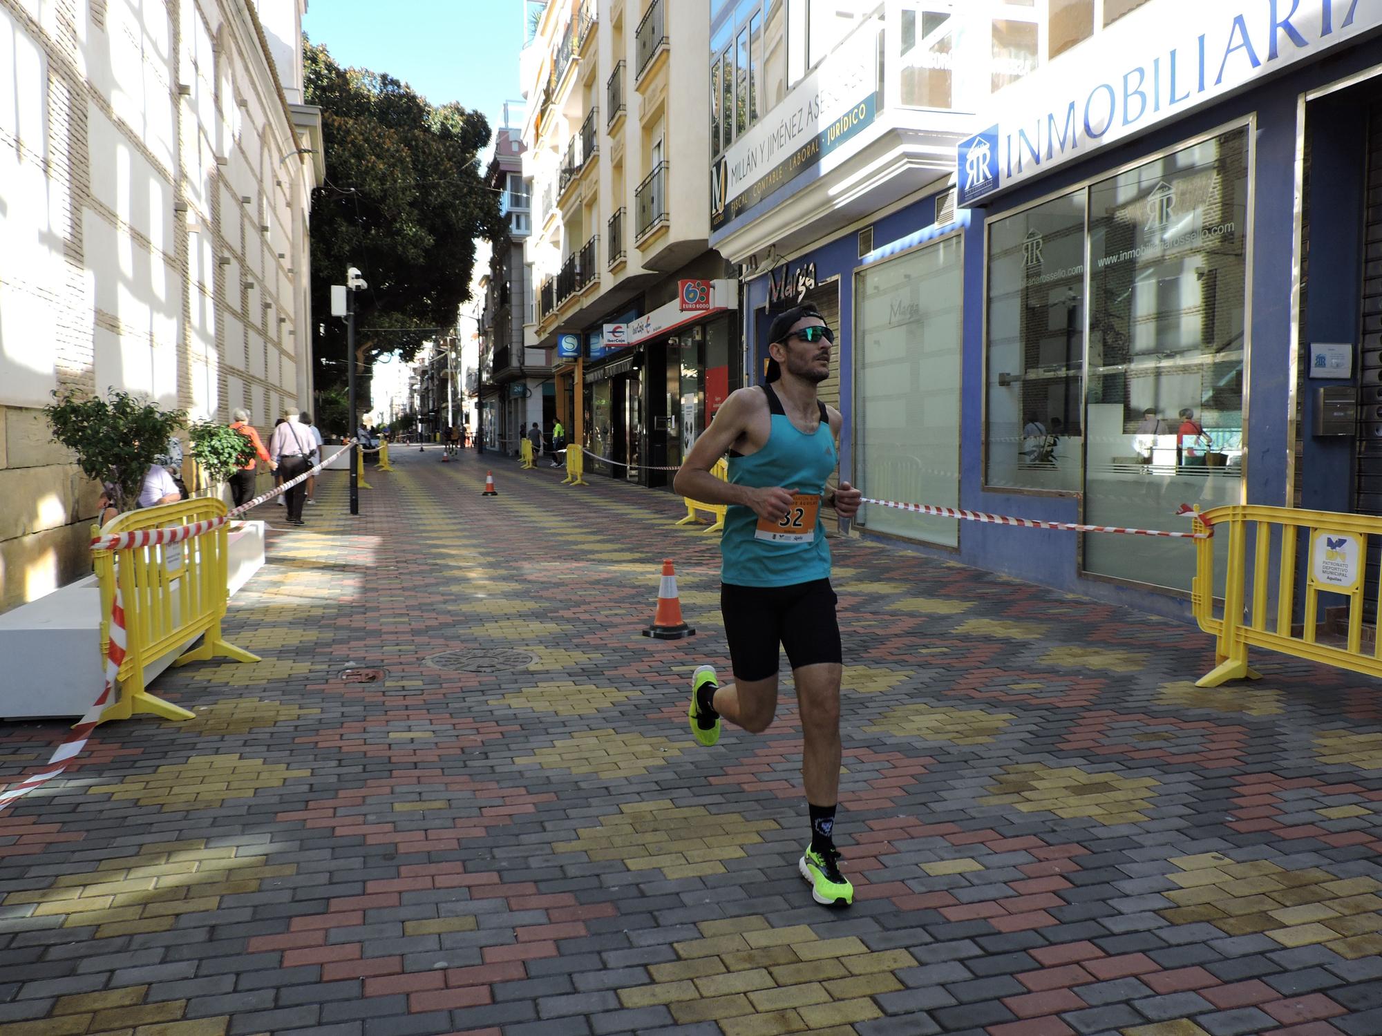
<svg viewBox="0 0 1382 1036">
<path fill-rule="evenodd" d="M 387 72 L 434 105 L 459 101 L 491 126 L 521 99 L 517 0 L 311 0 L 303 30 L 337 64 Z"/>
</svg>

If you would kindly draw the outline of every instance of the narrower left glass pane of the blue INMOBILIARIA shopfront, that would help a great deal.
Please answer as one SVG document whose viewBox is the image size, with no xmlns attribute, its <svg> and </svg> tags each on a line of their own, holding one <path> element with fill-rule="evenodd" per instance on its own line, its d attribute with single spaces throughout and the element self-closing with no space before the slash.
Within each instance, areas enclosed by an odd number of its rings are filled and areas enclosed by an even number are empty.
<svg viewBox="0 0 1382 1036">
<path fill-rule="evenodd" d="M 988 227 L 984 482 L 1078 492 L 1085 192 Z"/>
</svg>

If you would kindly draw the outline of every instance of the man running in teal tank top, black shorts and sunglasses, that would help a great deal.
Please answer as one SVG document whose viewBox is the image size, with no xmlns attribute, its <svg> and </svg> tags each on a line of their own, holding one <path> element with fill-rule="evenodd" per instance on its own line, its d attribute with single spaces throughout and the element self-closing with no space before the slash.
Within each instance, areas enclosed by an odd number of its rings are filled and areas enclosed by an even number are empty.
<svg viewBox="0 0 1382 1036">
<path fill-rule="evenodd" d="M 840 630 L 831 588 L 831 550 L 821 504 L 853 518 L 860 490 L 849 482 L 826 497 L 839 463 L 840 413 L 815 396 L 831 374 L 835 336 L 810 307 L 795 307 L 768 329 L 761 387 L 732 392 L 677 471 L 691 500 L 728 504 L 720 540 L 720 611 L 734 684 L 713 666 L 691 677 L 691 733 L 720 739 L 720 720 L 761 733 L 777 711 L 778 645 L 786 648 L 802 713 L 802 783 L 811 841 L 799 870 L 815 902 L 849 906 L 854 887 L 840 873 L 835 807 L 840 787 Z M 730 481 L 710 467 L 730 452 Z"/>
</svg>

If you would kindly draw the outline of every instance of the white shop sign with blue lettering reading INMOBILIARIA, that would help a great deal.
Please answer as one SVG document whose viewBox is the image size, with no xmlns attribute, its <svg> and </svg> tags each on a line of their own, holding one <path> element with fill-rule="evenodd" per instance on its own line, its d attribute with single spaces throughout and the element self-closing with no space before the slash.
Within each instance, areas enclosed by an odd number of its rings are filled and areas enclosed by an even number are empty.
<svg viewBox="0 0 1382 1036">
<path fill-rule="evenodd" d="M 981 203 L 1379 26 L 1382 0 L 1146 4 L 994 98 L 996 122 L 956 148 L 958 203 Z"/>
</svg>

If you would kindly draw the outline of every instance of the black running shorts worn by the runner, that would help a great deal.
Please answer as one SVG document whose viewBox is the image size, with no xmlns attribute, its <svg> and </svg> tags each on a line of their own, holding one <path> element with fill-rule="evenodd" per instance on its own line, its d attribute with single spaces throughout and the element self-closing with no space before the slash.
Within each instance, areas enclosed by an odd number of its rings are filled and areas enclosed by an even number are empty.
<svg viewBox="0 0 1382 1036">
<path fill-rule="evenodd" d="M 792 669 L 842 660 L 831 580 L 792 586 L 720 584 L 720 613 L 735 680 L 767 680 L 778 671 L 778 644 Z"/>
</svg>

